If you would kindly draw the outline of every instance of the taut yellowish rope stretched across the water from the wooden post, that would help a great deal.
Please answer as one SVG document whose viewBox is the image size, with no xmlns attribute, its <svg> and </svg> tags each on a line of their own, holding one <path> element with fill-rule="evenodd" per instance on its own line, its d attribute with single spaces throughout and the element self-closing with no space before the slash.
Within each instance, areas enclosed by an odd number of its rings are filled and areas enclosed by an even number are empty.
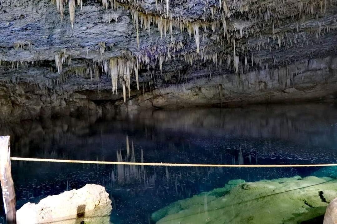
<svg viewBox="0 0 337 224">
<path fill-rule="evenodd" d="M 337 164 L 233 165 L 233 164 L 137 163 L 137 162 L 112 162 L 112 161 L 89 161 L 89 160 L 57 160 L 57 159 L 40 159 L 40 158 L 23 158 L 23 157 L 11 157 L 10 159 L 16 161 L 33 161 L 33 162 L 168 166 L 168 167 L 335 167 L 337 166 Z"/>
</svg>

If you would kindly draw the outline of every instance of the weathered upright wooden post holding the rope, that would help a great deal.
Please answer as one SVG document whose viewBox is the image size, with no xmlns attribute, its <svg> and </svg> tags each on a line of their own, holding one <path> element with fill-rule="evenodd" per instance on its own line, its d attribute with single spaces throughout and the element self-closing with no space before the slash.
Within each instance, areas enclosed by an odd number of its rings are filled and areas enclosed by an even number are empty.
<svg viewBox="0 0 337 224">
<path fill-rule="evenodd" d="M 9 136 L 0 136 L 0 181 L 7 224 L 16 224 L 16 200 L 10 167 Z"/>
</svg>

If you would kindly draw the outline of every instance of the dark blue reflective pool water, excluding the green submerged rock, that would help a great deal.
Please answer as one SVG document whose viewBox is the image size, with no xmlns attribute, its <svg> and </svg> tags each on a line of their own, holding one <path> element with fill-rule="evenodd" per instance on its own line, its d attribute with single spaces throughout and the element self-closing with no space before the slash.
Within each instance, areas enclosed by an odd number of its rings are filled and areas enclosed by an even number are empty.
<svg viewBox="0 0 337 224">
<path fill-rule="evenodd" d="M 22 157 L 193 164 L 336 163 L 336 112 L 337 108 L 328 104 L 158 110 L 109 121 L 74 118 L 27 121 L 2 125 L 0 135 L 10 134 L 12 156 Z M 170 203 L 224 188 L 228 181 L 235 179 L 249 182 L 296 175 L 335 175 L 333 169 L 318 168 L 151 167 L 18 161 L 12 161 L 12 173 L 18 208 L 28 201 L 36 203 L 47 195 L 80 188 L 86 183 L 103 185 L 113 200 L 111 222 L 115 224 L 153 222 L 151 215 Z M 218 200 L 226 195 L 222 191 L 216 194 Z M 215 206 L 212 203 L 215 203 L 213 199 L 202 195 L 197 210 L 209 211 Z"/>
</svg>

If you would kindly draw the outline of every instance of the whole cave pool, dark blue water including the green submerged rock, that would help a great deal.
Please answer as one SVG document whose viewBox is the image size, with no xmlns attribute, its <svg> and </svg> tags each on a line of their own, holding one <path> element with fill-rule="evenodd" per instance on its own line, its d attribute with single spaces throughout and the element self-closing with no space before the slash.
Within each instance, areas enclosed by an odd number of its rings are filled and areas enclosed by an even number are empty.
<svg viewBox="0 0 337 224">
<path fill-rule="evenodd" d="M 156 110 L 109 120 L 2 125 L 18 157 L 181 164 L 337 163 L 331 104 Z M 323 223 L 333 167 L 214 168 L 12 161 L 17 209 L 87 183 L 105 187 L 114 224 Z M 2 201 L 1 201 L 2 203 Z M 4 223 L 0 204 L 0 223 Z M 2 220 L 1 220 L 2 219 Z"/>
</svg>

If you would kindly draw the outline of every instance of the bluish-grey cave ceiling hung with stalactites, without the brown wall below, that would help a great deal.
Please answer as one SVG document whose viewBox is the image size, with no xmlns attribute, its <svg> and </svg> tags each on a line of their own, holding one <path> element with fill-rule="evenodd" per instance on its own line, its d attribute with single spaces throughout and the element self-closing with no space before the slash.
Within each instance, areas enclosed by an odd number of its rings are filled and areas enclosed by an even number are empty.
<svg viewBox="0 0 337 224">
<path fill-rule="evenodd" d="M 172 85 L 335 54 L 335 0 L 2 0 L 0 80 Z"/>
</svg>

